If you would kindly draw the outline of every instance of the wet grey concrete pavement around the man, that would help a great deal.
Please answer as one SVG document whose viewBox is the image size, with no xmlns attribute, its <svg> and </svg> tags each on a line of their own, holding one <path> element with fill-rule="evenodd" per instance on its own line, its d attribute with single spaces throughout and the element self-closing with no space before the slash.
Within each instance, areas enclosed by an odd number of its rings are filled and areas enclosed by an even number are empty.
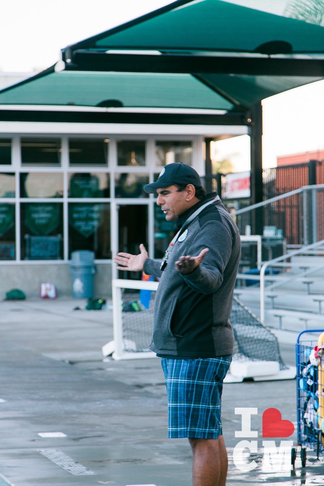
<svg viewBox="0 0 324 486">
<path fill-rule="evenodd" d="M 101 348 L 113 338 L 112 312 L 86 311 L 85 304 L 0 302 L 0 486 L 190 485 L 188 441 L 167 438 L 159 359 L 103 361 Z M 293 346 L 281 352 L 294 364 Z M 305 468 L 298 451 L 294 469 L 272 461 L 265 470 L 263 446 L 274 441 L 279 451 L 287 440 L 296 446 L 296 432 L 262 437 L 269 408 L 296 423 L 294 380 L 224 384 L 227 484 L 324 485 L 324 461 L 313 451 Z M 245 415 L 242 426 L 242 413 L 250 413 L 250 425 Z M 253 442 L 250 454 L 238 445 L 243 440 Z M 233 451 L 241 451 L 250 471 L 234 463 Z"/>
</svg>

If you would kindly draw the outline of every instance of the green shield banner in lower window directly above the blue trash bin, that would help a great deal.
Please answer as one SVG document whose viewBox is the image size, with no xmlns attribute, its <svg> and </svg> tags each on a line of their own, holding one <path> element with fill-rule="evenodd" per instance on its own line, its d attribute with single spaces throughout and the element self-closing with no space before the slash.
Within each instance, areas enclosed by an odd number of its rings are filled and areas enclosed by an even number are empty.
<svg viewBox="0 0 324 486">
<path fill-rule="evenodd" d="M 101 204 L 70 204 L 68 222 L 81 235 L 88 238 L 100 225 Z"/>
</svg>

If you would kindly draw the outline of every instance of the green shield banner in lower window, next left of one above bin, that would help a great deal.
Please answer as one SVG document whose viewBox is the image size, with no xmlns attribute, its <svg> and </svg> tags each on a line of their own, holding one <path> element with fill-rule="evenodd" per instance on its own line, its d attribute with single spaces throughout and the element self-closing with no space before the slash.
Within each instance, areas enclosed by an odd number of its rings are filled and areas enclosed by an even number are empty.
<svg viewBox="0 0 324 486">
<path fill-rule="evenodd" d="M 26 203 L 25 225 L 34 235 L 48 235 L 59 225 L 59 204 Z"/>
</svg>

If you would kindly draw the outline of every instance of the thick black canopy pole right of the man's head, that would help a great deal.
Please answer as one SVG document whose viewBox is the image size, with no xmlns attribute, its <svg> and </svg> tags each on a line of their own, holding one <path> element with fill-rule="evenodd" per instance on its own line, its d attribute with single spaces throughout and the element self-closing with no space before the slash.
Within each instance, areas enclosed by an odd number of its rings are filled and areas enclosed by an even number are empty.
<svg viewBox="0 0 324 486">
<path fill-rule="evenodd" d="M 256 103 L 250 110 L 251 138 L 251 204 L 263 201 L 262 180 L 262 104 Z M 253 211 L 252 231 L 255 235 L 263 233 L 262 208 Z"/>
</svg>

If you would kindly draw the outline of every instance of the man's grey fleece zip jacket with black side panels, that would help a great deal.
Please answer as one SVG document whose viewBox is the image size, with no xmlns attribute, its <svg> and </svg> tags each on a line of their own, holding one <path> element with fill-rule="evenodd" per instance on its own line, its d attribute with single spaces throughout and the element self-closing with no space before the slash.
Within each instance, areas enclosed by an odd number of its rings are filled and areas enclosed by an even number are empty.
<svg viewBox="0 0 324 486">
<path fill-rule="evenodd" d="M 211 193 L 179 216 L 179 228 L 197 208 L 214 199 Z M 222 202 L 208 206 L 181 232 L 164 272 L 147 259 L 144 272 L 160 277 L 155 296 L 150 348 L 171 358 L 213 358 L 233 353 L 229 316 L 240 258 L 239 230 Z M 202 264 L 182 276 L 175 261 L 209 248 Z"/>
</svg>

